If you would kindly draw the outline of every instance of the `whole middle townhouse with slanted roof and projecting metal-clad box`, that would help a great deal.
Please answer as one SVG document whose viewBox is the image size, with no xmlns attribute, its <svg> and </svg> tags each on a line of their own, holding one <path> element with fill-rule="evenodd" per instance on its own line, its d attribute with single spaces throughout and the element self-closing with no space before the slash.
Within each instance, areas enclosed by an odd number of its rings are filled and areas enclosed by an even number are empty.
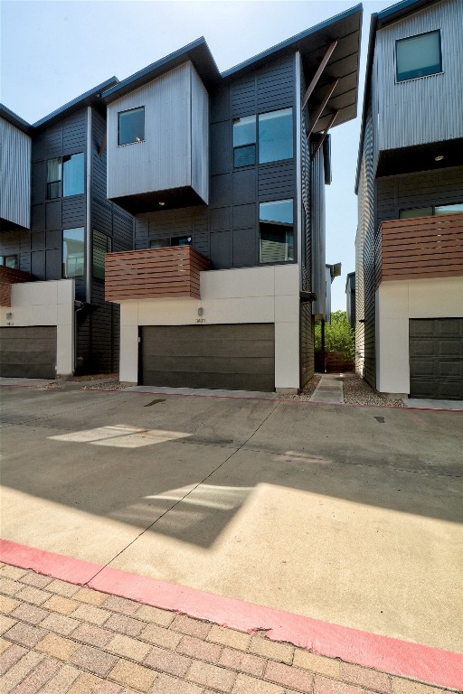
<svg viewBox="0 0 463 694">
<path fill-rule="evenodd" d="M 200 39 L 103 93 L 108 198 L 135 216 L 135 249 L 106 257 L 121 380 L 297 392 L 312 376 L 328 131 L 356 114 L 361 20 L 222 74 Z"/>
</svg>

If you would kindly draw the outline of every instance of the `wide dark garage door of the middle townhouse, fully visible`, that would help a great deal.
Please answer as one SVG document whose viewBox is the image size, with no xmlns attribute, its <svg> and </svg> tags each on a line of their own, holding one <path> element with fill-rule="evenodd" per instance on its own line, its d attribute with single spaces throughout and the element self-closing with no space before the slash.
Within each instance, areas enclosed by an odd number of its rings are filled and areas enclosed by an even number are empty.
<svg viewBox="0 0 463 694">
<path fill-rule="evenodd" d="M 140 332 L 144 385 L 275 389 L 273 324 L 150 325 Z"/>
</svg>

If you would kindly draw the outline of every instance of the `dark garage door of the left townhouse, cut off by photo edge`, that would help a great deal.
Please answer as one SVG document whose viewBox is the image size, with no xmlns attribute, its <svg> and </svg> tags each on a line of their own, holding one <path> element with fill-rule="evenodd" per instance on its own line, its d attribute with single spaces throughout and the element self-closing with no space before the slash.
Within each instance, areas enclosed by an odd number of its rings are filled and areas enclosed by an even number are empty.
<svg viewBox="0 0 463 694">
<path fill-rule="evenodd" d="M 54 379 L 56 326 L 0 328 L 0 376 Z"/>
</svg>

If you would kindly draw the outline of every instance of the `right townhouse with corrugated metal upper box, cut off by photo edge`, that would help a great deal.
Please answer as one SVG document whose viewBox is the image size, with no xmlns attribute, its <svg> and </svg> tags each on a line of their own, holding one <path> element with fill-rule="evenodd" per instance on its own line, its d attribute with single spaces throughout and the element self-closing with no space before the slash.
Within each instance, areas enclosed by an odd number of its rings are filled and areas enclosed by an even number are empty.
<svg viewBox="0 0 463 694">
<path fill-rule="evenodd" d="M 463 399 L 463 4 L 372 17 L 357 167 L 357 369 Z"/>
</svg>

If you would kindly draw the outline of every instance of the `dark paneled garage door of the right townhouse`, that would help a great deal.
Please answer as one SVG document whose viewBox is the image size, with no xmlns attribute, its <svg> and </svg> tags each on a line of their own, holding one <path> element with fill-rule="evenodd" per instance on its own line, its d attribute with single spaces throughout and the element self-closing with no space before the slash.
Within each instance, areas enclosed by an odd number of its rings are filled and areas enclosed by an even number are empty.
<svg viewBox="0 0 463 694">
<path fill-rule="evenodd" d="M 410 395 L 463 400 L 463 318 L 410 321 Z"/>
</svg>

